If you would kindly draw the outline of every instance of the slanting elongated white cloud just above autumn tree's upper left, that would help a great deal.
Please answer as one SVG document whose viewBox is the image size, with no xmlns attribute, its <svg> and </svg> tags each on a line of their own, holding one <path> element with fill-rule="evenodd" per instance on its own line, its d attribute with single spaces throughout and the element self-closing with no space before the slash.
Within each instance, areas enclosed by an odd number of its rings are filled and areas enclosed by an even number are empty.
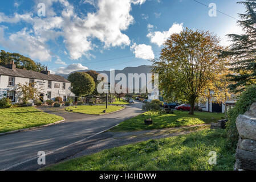
<svg viewBox="0 0 256 182">
<path fill-rule="evenodd" d="M 170 35 L 180 33 L 182 30 L 183 23 L 174 23 L 173 26 L 170 27 L 168 31 L 149 32 L 147 37 L 151 39 L 151 43 L 157 44 L 157 46 L 161 47 L 162 44 L 165 43 L 165 41 L 169 38 Z"/>
</svg>

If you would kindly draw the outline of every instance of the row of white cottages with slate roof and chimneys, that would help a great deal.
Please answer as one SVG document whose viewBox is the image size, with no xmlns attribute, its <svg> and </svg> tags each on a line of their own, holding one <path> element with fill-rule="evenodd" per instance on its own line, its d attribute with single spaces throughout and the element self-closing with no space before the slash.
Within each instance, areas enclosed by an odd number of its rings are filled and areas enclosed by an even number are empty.
<svg viewBox="0 0 256 182">
<path fill-rule="evenodd" d="M 68 96 L 75 97 L 71 92 L 71 82 L 58 75 L 51 75 L 50 71 L 34 72 L 26 69 L 16 68 L 14 62 L 5 67 L 0 66 L 0 99 L 9 97 L 13 102 L 19 102 L 18 94 L 15 92 L 19 83 L 35 83 L 40 92 L 40 100 L 55 100 L 62 97 L 66 101 Z"/>
</svg>

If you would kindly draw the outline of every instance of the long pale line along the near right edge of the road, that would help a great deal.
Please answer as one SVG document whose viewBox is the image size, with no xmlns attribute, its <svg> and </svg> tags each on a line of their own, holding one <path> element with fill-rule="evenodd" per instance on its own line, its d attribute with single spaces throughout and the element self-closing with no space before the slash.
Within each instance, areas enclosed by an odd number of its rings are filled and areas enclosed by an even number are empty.
<svg viewBox="0 0 256 182">
<path fill-rule="evenodd" d="M 106 130 L 100 131 L 99 133 L 93 134 L 93 135 L 91 135 L 90 137 L 87 137 L 87 138 L 78 140 L 77 142 L 68 144 L 67 146 L 63 146 L 63 147 L 57 148 L 57 149 L 55 149 L 55 150 L 48 151 L 48 152 L 46 152 L 46 156 L 47 156 L 47 155 L 50 155 L 50 154 L 53 154 L 54 152 L 63 150 L 64 148 L 68 148 L 68 147 L 70 147 L 70 146 L 72 146 L 72 145 L 74 145 L 74 144 L 77 144 L 77 143 L 83 142 L 83 141 L 85 141 L 85 140 L 88 140 L 88 139 L 90 139 L 90 138 L 92 138 L 92 137 L 95 137 L 96 135 L 99 135 L 99 134 L 101 134 L 101 133 L 104 133 L 104 132 L 106 132 L 106 131 L 108 131 L 108 130 L 110 130 L 110 129 L 112 129 L 113 127 L 116 127 L 116 126 L 118 126 L 118 125 L 119 125 L 119 123 L 118 123 L 117 125 L 115 125 L 115 126 L 110 127 L 109 129 L 106 129 Z M 35 160 L 35 159 L 37 159 L 37 158 L 38 158 L 38 156 L 36 156 L 36 157 L 34 157 L 34 158 L 30 158 L 30 159 L 24 160 L 23 162 L 20 162 L 20 163 L 14 164 L 14 165 L 12 165 L 12 166 L 9 166 L 9 167 L 7 167 L 7 168 L 1 169 L 0 171 L 7 171 L 7 170 L 9 170 L 9 169 L 11 169 L 11 168 L 20 166 L 20 165 L 22 165 L 22 164 L 25 164 L 25 163 L 30 162 L 31 160 Z"/>
</svg>

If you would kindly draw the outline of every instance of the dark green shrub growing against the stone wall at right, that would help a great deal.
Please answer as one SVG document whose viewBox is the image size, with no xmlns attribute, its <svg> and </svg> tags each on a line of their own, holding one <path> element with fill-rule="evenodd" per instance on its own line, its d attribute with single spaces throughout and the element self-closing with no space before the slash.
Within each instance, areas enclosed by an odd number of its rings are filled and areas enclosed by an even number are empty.
<svg viewBox="0 0 256 182">
<path fill-rule="evenodd" d="M 239 100 L 235 107 L 228 111 L 228 119 L 226 126 L 227 139 L 231 147 L 236 147 L 238 142 L 238 131 L 235 121 L 239 114 L 245 114 L 247 110 L 250 109 L 250 106 L 256 102 L 256 85 L 248 87 L 244 92 L 239 96 Z"/>
</svg>

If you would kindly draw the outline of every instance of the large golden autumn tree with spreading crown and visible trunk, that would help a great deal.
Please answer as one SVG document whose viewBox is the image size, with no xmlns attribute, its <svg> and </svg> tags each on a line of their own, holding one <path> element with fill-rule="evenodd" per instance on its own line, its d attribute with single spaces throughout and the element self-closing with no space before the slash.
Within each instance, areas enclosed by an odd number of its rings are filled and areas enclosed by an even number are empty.
<svg viewBox="0 0 256 182">
<path fill-rule="evenodd" d="M 217 102 L 228 96 L 225 81 L 226 60 L 218 57 L 221 46 L 208 31 L 186 28 L 173 34 L 164 43 L 160 59 L 153 61 L 153 71 L 159 73 L 164 97 L 189 102 L 189 114 L 194 114 L 198 98 L 214 97 Z"/>
</svg>

